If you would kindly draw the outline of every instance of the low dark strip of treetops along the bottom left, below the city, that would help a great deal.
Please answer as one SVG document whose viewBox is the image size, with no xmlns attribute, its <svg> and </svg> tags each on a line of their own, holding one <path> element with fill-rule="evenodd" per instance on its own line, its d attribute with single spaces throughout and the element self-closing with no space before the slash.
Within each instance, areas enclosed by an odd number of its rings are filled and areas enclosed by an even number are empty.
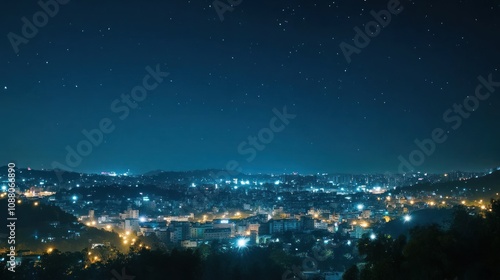
<svg viewBox="0 0 500 280">
<path fill-rule="evenodd" d="M 208 248 L 208 246 L 207 246 Z M 133 250 L 122 254 L 107 252 L 107 261 L 91 262 L 88 251 L 43 254 L 33 266 L 25 263 L 15 273 L 2 262 L 0 279 L 281 279 L 287 262 L 280 248 L 245 248 L 225 253 L 204 252 L 200 248 L 170 252 Z"/>
</svg>

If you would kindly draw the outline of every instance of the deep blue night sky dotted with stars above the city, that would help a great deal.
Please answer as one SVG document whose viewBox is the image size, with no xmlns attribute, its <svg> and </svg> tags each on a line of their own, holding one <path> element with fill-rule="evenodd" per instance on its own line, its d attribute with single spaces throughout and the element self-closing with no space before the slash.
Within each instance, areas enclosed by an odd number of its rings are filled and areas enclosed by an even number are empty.
<svg viewBox="0 0 500 280">
<path fill-rule="evenodd" d="M 401 1 L 350 63 L 340 44 L 354 45 L 354 28 L 390 1 L 234 0 L 223 20 L 216 8 L 228 1 L 65 1 L 32 38 L 22 18 L 40 15 L 36 1 L 0 11 L 0 165 L 397 172 L 415 139 L 442 128 L 447 140 L 415 170 L 500 166 L 500 88 L 457 129 L 443 119 L 478 76 L 500 81 L 499 1 Z M 111 104 L 148 66 L 169 75 L 121 119 Z M 238 151 L 285 106 L 295 118 L 284 129 L 252 157 Z M 69 165 L 67 148 L 103 119 L 114 130 Z"/>
</svg>

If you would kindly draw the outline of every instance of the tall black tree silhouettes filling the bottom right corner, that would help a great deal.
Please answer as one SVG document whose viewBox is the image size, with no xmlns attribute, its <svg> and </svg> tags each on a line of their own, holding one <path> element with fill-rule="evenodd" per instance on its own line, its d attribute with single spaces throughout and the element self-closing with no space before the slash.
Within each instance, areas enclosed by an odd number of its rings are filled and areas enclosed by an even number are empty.
<svg viewBox="0 0 500 280">
<path fill-rule="evenodd" d="M 343 279 L 500 279 L 500 202 L 491 204 L 491 211 L 474 215 L 458 207 L 446 229 L 434 224 L 413 228 L 408 238 L 362 238 L 364 263 Z"/>
</svg>

